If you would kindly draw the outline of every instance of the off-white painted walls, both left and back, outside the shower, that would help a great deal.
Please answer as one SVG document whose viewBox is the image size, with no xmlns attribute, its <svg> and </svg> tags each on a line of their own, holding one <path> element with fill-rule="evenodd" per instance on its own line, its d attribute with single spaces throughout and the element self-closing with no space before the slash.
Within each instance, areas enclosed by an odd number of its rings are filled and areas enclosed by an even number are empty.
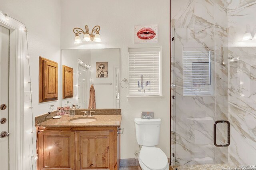
<svg viewBox="0 0 256 170">
<path fill-rule="evenodd" d="M 120 91 L 122 109 L 121 158 L 136 158 L 134 118 L 142 111 L 154 111 L 155 117 L 162 119 L 159 147 L 169 157 L 170 150 L 170 50 L 169 50 L 169 0 L 0 0 L 0 10 L 23 22 L 28 29 L 28 47 L 31 62 L 32 98 L 34 116 L 55 109 L 61 103 L 60 76 L 58 101 L 38 103 L 38 56 L 59 63 L 60 49 L 70 48 L 120 48 L 120 79 L 128 78 L 129 47 L 161 47 L 162 50 L 162 91 L 163 100 L 139 99 L 127 101 L 128 89 Z M 91 30 L 101 27 L 102 43 L 82 43 L 74 45 L 73 28 L 85 25 Z M 158 24 L 158 43 L 134 44 L 134 25 Z M 28 81 L 28 64 L 25 63 L 24 79 Z M 29 87 L 25 86 L 26 93 Z M 29 105 L 25 103 L 25 105 Z M 34 119 L 34 118 L 33 118 Z M 31 166 L 31 113 L 25 109 L 25 169 Z M 33 123 L 34 124 L 34 123 Z M 34 129 L 35 130 L 35 129 Z M 34 137 L 34 144 L 35 144 Z M 35 152 L 35 145 L 34 145 Z M 35 168 L 35 164 L 34 164 Z"/>
</svg>

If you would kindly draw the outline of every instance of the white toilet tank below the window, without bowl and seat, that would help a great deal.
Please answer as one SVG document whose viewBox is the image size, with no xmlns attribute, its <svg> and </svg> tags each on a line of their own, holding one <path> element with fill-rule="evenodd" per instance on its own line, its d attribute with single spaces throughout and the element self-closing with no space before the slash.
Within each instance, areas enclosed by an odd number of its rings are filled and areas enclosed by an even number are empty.
<svg viewBox="0 0 256 170">
<path fill-rule="evenodd" d="M 155 146 L 159 143 L 161 119 L 135 118 L 136 138 L 142 146 Z"/>
</svg>

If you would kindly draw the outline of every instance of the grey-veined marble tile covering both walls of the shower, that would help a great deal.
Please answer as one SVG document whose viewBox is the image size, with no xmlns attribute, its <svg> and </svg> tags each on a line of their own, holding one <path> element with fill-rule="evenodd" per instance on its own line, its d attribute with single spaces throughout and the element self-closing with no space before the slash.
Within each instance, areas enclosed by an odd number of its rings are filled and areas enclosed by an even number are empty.
<svg viewBox="0 0 256 170">
<path fill-rule="evenodd" d="M 172 164 L 255 164 L 256 40 L 242 41 L 255 16 L 256 0 L 171 0 Z M 215 95 L 183 95 L 183 50 L 211 51 Z M 231 123 L 228 148 L 212 145 L 216 120 Z M 217 129 L 225 143 L 226 124 Z"/>
</svg>

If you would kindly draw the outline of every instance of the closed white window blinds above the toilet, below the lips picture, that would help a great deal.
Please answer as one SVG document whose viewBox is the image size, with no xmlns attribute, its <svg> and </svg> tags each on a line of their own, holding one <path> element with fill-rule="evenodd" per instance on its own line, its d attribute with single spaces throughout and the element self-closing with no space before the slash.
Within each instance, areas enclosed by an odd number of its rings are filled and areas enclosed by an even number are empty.
<svg viewBox="0 0 256 170">
<path fill-rule="evenodd" d="M 130 48 L 129 96 L 160 95 L 160 48 Z"/>
</svg>

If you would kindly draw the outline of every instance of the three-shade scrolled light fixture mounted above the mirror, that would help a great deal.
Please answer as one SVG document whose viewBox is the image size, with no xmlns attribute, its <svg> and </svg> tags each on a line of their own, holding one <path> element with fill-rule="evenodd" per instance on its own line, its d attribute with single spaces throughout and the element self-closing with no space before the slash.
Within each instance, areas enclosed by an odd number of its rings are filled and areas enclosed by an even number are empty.
<svg viewBox="0 0 256 170">
<path fill-rule="evenodd" d="M 89 28 L 86 25 L 85 26 L 85 31 L 82 30 L 82 28 L 74 28 L 73 32 L 75 33 L 75 42 L 74 44 L 80 44 L 83 41 L 89 42 L 89 41 L 94 41 L 94 42 L 101 42 L 100 39 L 100 26 L 95 26 L 92 29 L 92 33 L 89 34 Z M 84 37 L 83 39 L 80 38 L 79 34 L 83 34 Z"/>
</svg>

